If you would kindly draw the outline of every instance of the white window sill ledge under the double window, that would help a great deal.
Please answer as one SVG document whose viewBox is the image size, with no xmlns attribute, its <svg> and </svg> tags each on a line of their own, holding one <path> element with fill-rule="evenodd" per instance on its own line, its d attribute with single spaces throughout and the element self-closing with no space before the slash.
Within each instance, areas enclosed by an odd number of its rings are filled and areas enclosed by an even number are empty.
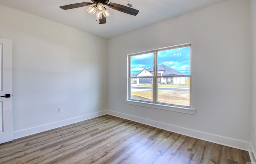
<svg viewBox="0 0 256 164">
<path fill-rule="evenodd" d="M 176 106 L 162 105 L 162 104 L 156 104 L 156 103 L 137 102 L 137 101 L 133 101 L 133 100 L 125 100 L 125 103 L 131 104 L 131 105 L 143 106 L 143 107 L 150 107 L 150 108 L 155 108 L 155 109 L 162 109 L 162 110 L 167 110 L 167 111 L 187 113 L 187 114 L 191 114 L 191 115 L 194 115 L 196 112 L 196 110 L 191 109 L 191 108 L 176 107 Z"/>
</svg>

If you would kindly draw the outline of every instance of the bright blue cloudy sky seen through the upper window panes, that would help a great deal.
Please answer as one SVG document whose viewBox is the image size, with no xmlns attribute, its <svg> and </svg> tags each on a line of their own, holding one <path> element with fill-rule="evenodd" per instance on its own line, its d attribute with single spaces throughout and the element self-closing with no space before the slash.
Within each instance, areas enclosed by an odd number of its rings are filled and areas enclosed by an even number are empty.
<svg viewBox="0 0 256 164">
<path fill-rule="evenodd" d="M 153 53 L 132 56 L 132 73 L 153 66 Z M 165 64 L 183 74 L 190 75 L 190 47 L 158 51 L 158 65 Z"/>
</svg>

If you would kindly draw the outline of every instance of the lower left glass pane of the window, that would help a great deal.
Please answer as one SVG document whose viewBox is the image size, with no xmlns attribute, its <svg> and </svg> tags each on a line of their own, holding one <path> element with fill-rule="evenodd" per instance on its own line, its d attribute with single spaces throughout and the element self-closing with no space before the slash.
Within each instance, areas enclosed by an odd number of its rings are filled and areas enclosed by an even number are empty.
<svg viewBox="0 0 256 164">
<path fill-rule="evenodd" d="M 152 78 L 131 78 L 131 99 L 152 102 Z"/>
</svg>

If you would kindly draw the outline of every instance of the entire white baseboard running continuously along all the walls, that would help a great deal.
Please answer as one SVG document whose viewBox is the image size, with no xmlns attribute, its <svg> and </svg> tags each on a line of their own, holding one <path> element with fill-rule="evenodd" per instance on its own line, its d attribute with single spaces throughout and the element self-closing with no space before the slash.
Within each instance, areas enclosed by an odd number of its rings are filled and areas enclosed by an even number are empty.
<svg viewBox="0 0 256 164">
<path fill-rule="evenodd" d="M 240 140 L 236 140 L 236 139 L 231 139 L 231 138 L 227 138 L 227 137 L 213 135 L 213 134 L 210 134 L 210 133 L 195 131 L 195 130 L 192 130 L 192 129 L 187 129 L 187 128 L 184 128 L 184 127 L 178 127 L 178 126 L 175 126 L 175 125 L 161 123 L 161 122 L 158 122 L 158 121 L 153 121 L 153 120 L 150 120 L 150 119 L 145 119 L 145 118 L 142 118 L 142 117 L 137 117 L 137 116 L 134 116 L 134 115 L 128 115 L 128 114 L 125 114 L 125 113 L 120 113 L 120 112 L 111 111 L 111 110 L 99 111 L 99 112 L 96 112 L 96 113 L 91 113 L 91 114 L 88 114 L 88 115 L 74 117 L 74 118 L 71 118 L 71 119 L 63 120 L 63 121 L 58 121 L 58 122 L 49 123 L 49 124 L 46 124 L 46 125 L 41 125 L 41 126 L 37 126 L 37 127 L 23 129 L 23 130 L 20 130 L 20 131 L 14 131 L 13 132 L 13 137 L 14 137 L 14 139 L 18 139 L 18 138 L 21 138 L 21 137 L 26 137 L 26 136 L 29 136 L 29 135 L 33 135 L 33 134 L 40 133 L 40 132 L 43 132 L 43 131 L 48 131 L 48 130 L 55 129 L 55 128 L 58 128 L 58 127 L 63 127 L 63 126 L 66 126 L 66 125 L 70 125 L 72 123 L 77 123 L 77 122 L 80 122 L 80 121 L 84 121 L 84 120 L 87 120 L 87 119 L 92 119 L 94 117 L 98 117 L 98 116 L 106 115 L 106 114 L 113 115 L 113 116 L 116 116 L 116 117 L 121 117 L 121 118 L 128 119 L 128 120 L 131 120 L 131 121 L 136 121 L 138 123 L 143 123 L 143 124 L 150 125 L 152 127 L 157 127 L 157 128 L 160 128 L 160 129 L 164 129 L 164 130 L 167 130 L 167 131 L 172 131 L 174 133 L 179 133 L 181 135 L 186 135 L 186 136 L 194 137 L 194 138 L 197 138 L 197 139 L 202 139 L 204 141 L 209 141 L 209 142 L 212 142 L 212 143 L 222 144 L 222 145 L 225 145 L 225 146 L 230 146 L 230 147 L 246 150 L 246 151 L 251 152 L 251 153 L 249 153 L 251 160 L 256 157 L 255 150 L 252 147 L 252 144 L 248 143 L 246 141 L 240 141 Z M 254 156 L 254 158 L 252 158 L 253 156 Z"/>
</svg>

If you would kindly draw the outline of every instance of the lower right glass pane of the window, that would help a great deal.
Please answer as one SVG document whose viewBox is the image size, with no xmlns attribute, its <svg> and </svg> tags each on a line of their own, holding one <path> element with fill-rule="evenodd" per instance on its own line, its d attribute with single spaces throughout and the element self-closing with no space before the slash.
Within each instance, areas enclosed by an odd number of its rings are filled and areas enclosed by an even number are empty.
<svg viewBox="0 0 256 164">
<path fill-rule="evenodd" d="M 158 102 L 190 106 L 189 77 L 162 78 L 158 83 Z"/>
</svg>

